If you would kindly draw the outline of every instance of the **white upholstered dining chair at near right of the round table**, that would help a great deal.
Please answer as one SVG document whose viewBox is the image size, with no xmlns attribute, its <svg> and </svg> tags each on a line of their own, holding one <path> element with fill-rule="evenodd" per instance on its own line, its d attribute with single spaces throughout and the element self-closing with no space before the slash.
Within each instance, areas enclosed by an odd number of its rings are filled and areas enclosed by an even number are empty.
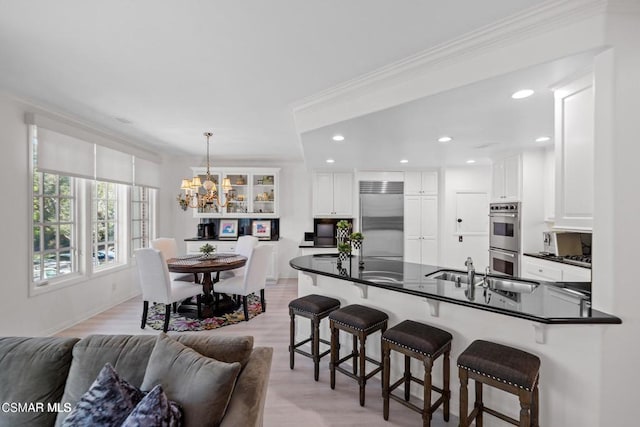
<svg viewBox="0 0 640 427">
<path fill-rule="evenodd" d="M 247 261 L 247 270 L 242 276 L 234 276 L 229 279 L 222 279 L 215 284 L 215 291 L 218 293 L 235 294 L 242 296 L 242 306 L 244 310 L 244 320 L 249 321 L 249 308 L 247 306 L 247 296 L 260 291 L 260 304 L 262 311 L 266 309 L 264 299 L 264 288 L 267 283 L 267 269 L 271 258 L 271 246 L 259 246 L 253 250 L 253 254 Z"/>
</svg>

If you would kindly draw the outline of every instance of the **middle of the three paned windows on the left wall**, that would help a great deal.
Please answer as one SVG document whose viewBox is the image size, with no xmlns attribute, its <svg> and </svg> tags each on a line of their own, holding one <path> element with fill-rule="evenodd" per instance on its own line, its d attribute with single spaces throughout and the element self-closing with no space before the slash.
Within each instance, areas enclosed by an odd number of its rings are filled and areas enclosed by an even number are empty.
<svg viewBox="0 0 640 427">
<path fill-rule="evenodd" d="M 118 264 L 119 184 L 95 181 L 91 204 L 94 269 Z"/>
</svg>

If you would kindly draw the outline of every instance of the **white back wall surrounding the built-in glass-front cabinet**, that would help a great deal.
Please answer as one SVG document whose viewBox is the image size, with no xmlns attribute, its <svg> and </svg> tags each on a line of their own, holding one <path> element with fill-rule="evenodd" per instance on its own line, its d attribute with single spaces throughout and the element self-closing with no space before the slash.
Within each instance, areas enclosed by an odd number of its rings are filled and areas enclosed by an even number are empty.
<svg viewBox="0 0 640 427">
<path fill-rule="evenodd" d="M 180 251 L 185 250 L 184 239 L 196 237 L 198 218 L 191 209 L 183 211 L 176 197 L 180 192 L 182 178 L 191 177 L 191 167 L 201 166 L 203 157 L 166 158 L 163 163 L 159 192 L 158 232 L 161 236 L 172 236 L 178 240 Z M 225 160 L 217 161 L 215 153 L 212 163 L 218 167 L 277 167 L 280 168 L 280 241 L 278 243 L 278 272 L 280 278 L 296 277 L 289 260 L 299 256 L 298 245 L 305 231 L 313 231 L 311 214 L 311 175 L 302 163 L 275 161 Z"/>
</svg>

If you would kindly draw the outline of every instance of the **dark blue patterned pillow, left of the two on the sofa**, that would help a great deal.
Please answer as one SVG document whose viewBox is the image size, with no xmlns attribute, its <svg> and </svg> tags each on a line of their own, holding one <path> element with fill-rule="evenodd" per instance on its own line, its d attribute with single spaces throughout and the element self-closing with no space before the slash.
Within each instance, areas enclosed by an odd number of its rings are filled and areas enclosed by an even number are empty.
<svg viewBox="0 0 640 427">
<path fill-rule="evenodd" d="M 107 363 L 62 423 L 71 426 L 120 426 L 143 394 Z"/>
</svg>

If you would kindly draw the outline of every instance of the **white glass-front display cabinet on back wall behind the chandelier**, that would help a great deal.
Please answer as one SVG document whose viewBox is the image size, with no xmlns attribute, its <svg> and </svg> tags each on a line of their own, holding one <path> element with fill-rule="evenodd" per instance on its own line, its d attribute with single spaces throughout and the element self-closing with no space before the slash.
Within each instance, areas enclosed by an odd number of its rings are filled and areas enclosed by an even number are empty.
<svg viewBox="0 0 640 427">
<path fill-rule="evenodd" d="M 206 169 L 191 168 L 193 176 L 204 182 Z M 212 169 L 211 177 L 218 189 L 218 201 L 204 208 L 194 209 L 197 218 L 278 216 L 277 168 L 221 168 Z M 204 193 L 204 189 L 199 189 Z"/>
</svg>

